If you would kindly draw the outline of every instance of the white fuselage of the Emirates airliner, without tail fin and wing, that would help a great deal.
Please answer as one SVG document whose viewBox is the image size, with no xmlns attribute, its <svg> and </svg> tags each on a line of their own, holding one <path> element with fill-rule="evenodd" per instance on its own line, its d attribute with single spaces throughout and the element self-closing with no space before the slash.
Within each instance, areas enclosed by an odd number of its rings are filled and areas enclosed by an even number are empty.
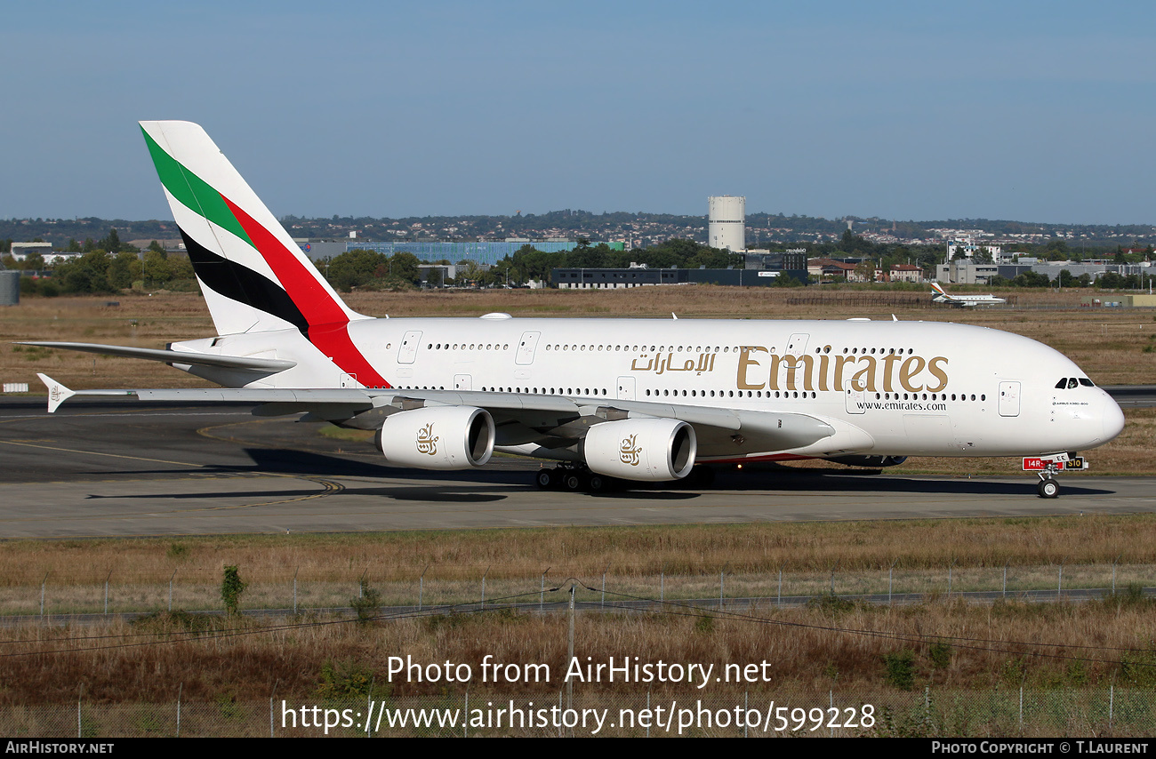
<svg viewBox="0 0 1156 759">
<path fill-rule="evenodd" d="M 1081 451 L 1124 416 L 1070 359 L 995 329 L 913 321 L 366 319 L 353 345 L 398 389 L 558 395 L 765 410 L 831 424 L 788 452 L 704 449 L 716 461 L 872 455 L 1018 456 Z M 296 360 L 249 387 L 375 387 L 296 330 L 175 345 Z M 198 374 L 230 384 L 206 367 Z M 1058 388 L 1059 380 L 1068 380 Z M 1074 387 L 1068 388 L 1072 384 Z"/>
</svg>

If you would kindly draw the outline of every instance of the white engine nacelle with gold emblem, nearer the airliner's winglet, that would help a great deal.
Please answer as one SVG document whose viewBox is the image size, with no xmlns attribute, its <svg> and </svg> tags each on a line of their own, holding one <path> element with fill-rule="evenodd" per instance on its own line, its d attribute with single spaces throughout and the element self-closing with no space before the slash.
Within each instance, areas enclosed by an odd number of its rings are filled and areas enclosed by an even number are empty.
<svg viewBox="0 0 1156 759">
<path fill-rule="evenodd" d="M 481 467 L 494 454 L 494 418 L 473 405 L 399 411 L 373 436 L 391 464 L 418 469 Z"/>
</svg>

